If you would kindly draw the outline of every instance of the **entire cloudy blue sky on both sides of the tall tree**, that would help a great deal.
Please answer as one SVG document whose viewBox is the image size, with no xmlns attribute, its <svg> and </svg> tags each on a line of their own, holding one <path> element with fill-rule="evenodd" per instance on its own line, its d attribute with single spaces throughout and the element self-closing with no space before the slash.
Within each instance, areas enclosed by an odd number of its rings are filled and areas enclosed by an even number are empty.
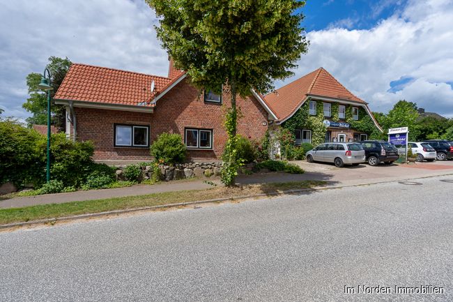
<svg viewBox="0 0 453 302">
<path fill-rule="evenodd" d="M 309 51 L 295 75 L 328 70 L 375 112 L 406 99 L 453 117 L 453 0 L 307 0 Z M 26 75 L 49 56 L 167 75 L 167 53 L 141 0 L 15 0 L 0 10 L 0 108 L 25 119 Z"/>
</svg>

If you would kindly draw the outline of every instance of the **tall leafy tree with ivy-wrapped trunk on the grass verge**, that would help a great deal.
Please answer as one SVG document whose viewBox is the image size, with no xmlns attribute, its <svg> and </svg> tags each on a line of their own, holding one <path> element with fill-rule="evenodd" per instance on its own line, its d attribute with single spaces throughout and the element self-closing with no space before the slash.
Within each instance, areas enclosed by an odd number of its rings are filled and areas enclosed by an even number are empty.
<svg viewBox="0 0 453 302">
<path fill-rule="evenodd" d="M 300 26 L 297 0 L 146 0 L 160 17 L 158 38 L 176 68 L 186 70 L 199 89 L 222 92 L 229 87 L 231 107 L 225 119 L 229 136 L 222 181 L 236 176 L 236 96 L 250 89 L 273 89 L 290 71 L 308 42 Z"/>
</svg>

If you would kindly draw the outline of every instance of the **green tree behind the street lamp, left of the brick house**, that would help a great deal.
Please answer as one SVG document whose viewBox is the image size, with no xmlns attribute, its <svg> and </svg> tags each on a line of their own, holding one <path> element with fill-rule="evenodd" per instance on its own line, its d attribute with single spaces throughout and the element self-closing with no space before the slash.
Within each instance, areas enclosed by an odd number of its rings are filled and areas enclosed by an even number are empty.
<svg viewBox="0 0 453 302">
<path fill-rule="evenodd" d="M 50 56 L 49 63 L 47 68 L 49 68 L 51 75 L 51 86 L 52 91 L 50 91 L 51 100 L 51 114 L 52 114 L 52 124 L 56 127 L 64 130 L 65 119 L 64 119 L 64 110 L 63 106 L 55 105 L 54 95 L 59 89 L 61 82 L 68 72 L 71 66 L 71 61 L 68 58 L 61 59 L 57 56 Z M 29 88 L 29 98 L 26 99 L 26 102 L 22 105 L 24 109 L 31 114 L 29 118 L 26 119 L 27 123 L 44 125 L 47 124 L 47 92 L 42 91 L 38 88 L 38 84 L 41 81 L 41 73 L 30 73 L 26 76 L 26 86 Z"/>
</svg>

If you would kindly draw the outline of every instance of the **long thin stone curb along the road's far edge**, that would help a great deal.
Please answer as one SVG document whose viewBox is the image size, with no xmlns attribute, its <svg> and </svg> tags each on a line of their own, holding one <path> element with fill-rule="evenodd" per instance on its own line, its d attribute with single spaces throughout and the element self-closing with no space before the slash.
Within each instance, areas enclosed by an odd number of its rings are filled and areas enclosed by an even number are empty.
<svg viewBox="0 0 453 302">
<path fill-rule="evenodd" d="M 60 218 L 46 218 L 46 219 L 41 219 L 41 220 L 15 222 L 15 223 L 7 224 L 7 225 L 0 225 L 0 229 L 9 229 L 9 228 L 13 228 L 13 227 L 24 227 L 24 226 L 28 226 L 28 225 L 42 225 L 45 223 L 52 223 L 52 222 L 57 222 L 57 221 L 80 220 L 80 219 L 85 219 L 85 218 L 95 218 L 95 217 L 101 217 L 101 216 L 120 215 L 120 214 L 124 214 L 124 213 L 133 213 L 133 212 L 139 212 L 139 211 L 169 209 L 169 208 L 176 208 L 178 206 L 191 206 L 191 205 L 196 205 L 196 204 L 208 204 L 208 203 L 213 203 L 213 202 L 227 202 L 227 201 L 240 200 L 240 199 L 251 199 L 251 198 L 256 198 L 256 197 L 289 195 L 289 194 L 309 192 L 309 191 L 332 190 L 332 189 L 350 188 L 350 187 L 358 187 L 358 186 L 369 186 L 369 185 L 375 185 L 378 183 L 392 183 L 395 181 L 408 181 L 408 180 L 412 180 L 412 179 L 429 179 L 432 177 L 450 176 L 450 175 L 453 175 L 453 173 L 432 175 L 432 176 L 413 177 L 413 178 L 404 178 L 404 179 L 393 179 L 391 181 L 376 181 L 376 182 L 372 182 L 372 183 L 358 183 L 358 184 L 344 185 L 344 186 L 314 187 L 314 188 L 305 188 L 305 189 L 297 189 L 297 190 L 285 190 L 282 192 L 262 193 L 262 194 L 255 194 L 255 195 L 243 195 L 243 196 L 238 196 L 238 197 L 225 197 L 225 198 L 217 198 L 217 199 L 200 200 L 200 201 L 196 201 L 196 202 L 180 202 L 178 204 L 162 204 L 160 206 L 143 206 L 140 208 L 132 208 L 132 209 L 124 209 L 124 210 L 113 210 L 113 211 L 105 211 L 105 212 L 100 212 L 100 213 L 88 213 L 88 214 L 75 215 L 75 216 L 66 216 L 66 217 L 60 217 Z"/>
</svg>

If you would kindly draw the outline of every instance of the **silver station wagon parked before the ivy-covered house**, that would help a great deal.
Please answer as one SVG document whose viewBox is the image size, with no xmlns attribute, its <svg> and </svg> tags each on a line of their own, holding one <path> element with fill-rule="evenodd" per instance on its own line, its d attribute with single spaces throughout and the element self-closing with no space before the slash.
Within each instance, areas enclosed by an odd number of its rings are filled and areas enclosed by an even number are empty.
<svg viewBox="0 0 453 302">
<path fill-rule="evenodd" d="M 330 142 L 320 144 L 305 154 L 307 162 L 334 163 L 336 167 L 365 162 L 365 151 L 359 143 Z"/>
</svg>

